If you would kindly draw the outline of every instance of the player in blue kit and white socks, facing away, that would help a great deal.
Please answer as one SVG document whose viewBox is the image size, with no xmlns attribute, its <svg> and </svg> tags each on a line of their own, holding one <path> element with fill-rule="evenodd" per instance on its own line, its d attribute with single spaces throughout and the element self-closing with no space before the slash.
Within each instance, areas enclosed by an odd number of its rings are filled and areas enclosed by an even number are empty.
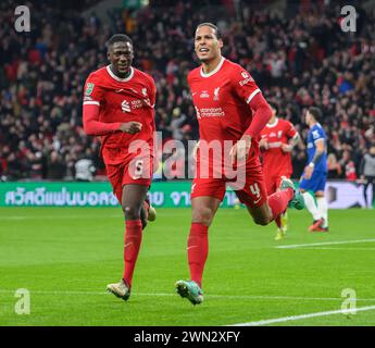
<svg viewBox="0 0 375 348">
<path fill-rule="evenodd" d="M 300 179 L 299 189 L 303 195 L 307 209 L 313 216 L 310 232 L 328 232 L 328 204 L 324 197 L 327 181 L 327 136 L 318 123 L 322 112 L 318 108 L 309 108 L 305 123 L 310 127 L 308 135 L 308 165 Z M 308 192 L 312 191 L 314 198 Z"/>
</svg>

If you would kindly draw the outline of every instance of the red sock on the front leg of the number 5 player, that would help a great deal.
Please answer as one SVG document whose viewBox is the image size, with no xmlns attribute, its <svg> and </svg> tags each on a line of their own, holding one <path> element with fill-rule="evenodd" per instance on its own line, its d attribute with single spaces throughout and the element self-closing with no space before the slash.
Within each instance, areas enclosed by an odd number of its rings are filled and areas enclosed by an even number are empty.
<svg viewBox="0 0 375 348">
<path fill-rule="evenodd" d="M 126 221 L 124 243 L 124 276 L 123 279 L 132 286 L 133 273 L 136 266 L 140 243 L 142 240 L 142 223 L 140 220 Z"/>
</svg>

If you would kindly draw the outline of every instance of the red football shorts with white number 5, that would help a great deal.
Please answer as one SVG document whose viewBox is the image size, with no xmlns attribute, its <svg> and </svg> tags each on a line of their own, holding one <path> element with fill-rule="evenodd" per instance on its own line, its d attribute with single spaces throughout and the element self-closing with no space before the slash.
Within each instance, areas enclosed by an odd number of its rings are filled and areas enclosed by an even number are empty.
<svg viewBox="0 0 375 348">
<path fill-rule="evenodd" d="M 118 202 L 122 202 L 123 187 L 135 184 L 150 186 L 152 181 L 152 157 L 132 159 L 118 164 L 108 163 L 103 157 L 107 176 Z"/>
</svg>

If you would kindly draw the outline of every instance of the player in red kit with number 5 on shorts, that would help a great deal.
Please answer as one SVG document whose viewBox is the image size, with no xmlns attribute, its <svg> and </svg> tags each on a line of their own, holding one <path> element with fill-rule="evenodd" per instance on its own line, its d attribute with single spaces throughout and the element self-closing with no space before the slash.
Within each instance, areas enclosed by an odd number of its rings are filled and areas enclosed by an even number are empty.
<svg viewBox="0 0 375 348">
<path fill-rule="evenodd" d="M 154 219 L 145 200 L 152 177 L 157 88 L 151 76 L 132 66 L 128 36 L 116 34 L 107 45 L 110 64 L 92 72 L 85 83 L 84 129 L 101 138 L 107 175 L 124 211 L 124 274 L 107 289 L 127 300 L 142 238 L 141 211 Z"/>
</svg>

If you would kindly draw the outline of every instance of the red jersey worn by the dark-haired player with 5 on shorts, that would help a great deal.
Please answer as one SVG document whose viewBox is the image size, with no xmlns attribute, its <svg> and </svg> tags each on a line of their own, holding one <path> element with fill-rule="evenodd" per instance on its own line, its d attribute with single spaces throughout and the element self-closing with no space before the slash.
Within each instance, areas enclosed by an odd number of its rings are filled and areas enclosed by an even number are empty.
<svg viewBox="0 0 375 348">
<path fill-rule="evenodd" d="M 91 73 L 85 83 L 84 104 L 98 104 L 99 121 L 103 123 L 140 122 L 141 130 L 136 134 L 114 130 L 101 136 L 103 156 L 108 163 L 121 163 L 136 153 L 129 153 L 128 147 L 135 140 L 143 140 L 153 151 L 154 103 L 157 87 L 153 78 L 130 67 L 130 75 L 120 78 L 110 66 L 103 66 Z"/>
</svg>

